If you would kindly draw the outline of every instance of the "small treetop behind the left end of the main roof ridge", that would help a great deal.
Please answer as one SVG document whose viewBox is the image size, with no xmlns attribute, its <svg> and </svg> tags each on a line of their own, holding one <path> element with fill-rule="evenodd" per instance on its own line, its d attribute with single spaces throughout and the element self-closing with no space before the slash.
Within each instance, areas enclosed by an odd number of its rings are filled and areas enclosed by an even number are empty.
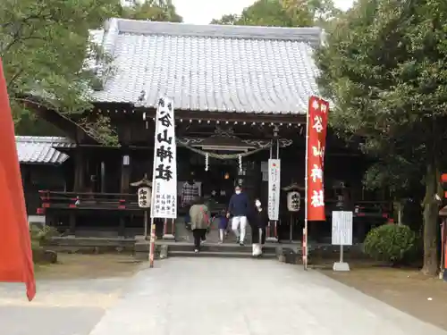
<svg viewBox="0 0 447 335">
<path fill-rule="evenodd" d="M 121 16 L 132 20 L 183 21 L 171 0 L 149 0 L 131 8 L 123 8 Z"/>
</svg>

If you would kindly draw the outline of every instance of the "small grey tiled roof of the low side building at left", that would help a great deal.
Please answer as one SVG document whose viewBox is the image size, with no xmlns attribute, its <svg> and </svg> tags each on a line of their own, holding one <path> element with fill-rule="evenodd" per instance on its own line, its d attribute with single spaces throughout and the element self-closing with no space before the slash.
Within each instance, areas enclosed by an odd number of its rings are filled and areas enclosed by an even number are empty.
<svg viewBox="0 0 447 335">
<path fill-rule="evenodd" d="M 15 143 L 20 163 L 28 164 L 61 164 L 68 155 L 56 150 L 57 147 L 75 147 L 68 138 L 16 136 Z"/>
</svg>

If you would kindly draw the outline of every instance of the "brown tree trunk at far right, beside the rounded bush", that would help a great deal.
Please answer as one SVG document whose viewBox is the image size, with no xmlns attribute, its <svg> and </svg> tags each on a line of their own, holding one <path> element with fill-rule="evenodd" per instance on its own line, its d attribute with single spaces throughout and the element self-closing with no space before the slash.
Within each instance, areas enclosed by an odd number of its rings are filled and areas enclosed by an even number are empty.
<svg viewBox="0 0 447 335">
<path fill-rule="evenodd" d="M 437 173 L 433 165 L 426 170 L 426 198 L 424 200 L 424 266 L 426 275 L 436 275 L 438 271 L 438 202 Z"/>
</svg>

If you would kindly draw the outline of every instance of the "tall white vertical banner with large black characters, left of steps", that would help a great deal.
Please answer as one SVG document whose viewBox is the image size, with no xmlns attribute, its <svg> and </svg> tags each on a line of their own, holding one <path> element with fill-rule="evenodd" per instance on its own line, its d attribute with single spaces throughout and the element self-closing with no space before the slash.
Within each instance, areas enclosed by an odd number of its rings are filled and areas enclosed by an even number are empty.
<svg viewBox="0 0 447 335">
<path fill-rule="evenodd" d="M 177 155 L 173 99 L 161 97 L 156 109 L 151 218 L 177 218 Z"/>
</svg>

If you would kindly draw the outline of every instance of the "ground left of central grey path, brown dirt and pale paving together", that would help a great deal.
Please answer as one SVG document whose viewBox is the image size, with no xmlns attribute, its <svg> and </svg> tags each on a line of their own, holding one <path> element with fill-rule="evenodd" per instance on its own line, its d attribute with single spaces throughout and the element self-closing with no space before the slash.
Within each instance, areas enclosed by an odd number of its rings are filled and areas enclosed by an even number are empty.
<svg viewBox="0 0 447 335">
<path fill-rule="evenodd" d="M 59 264 L 37 267 L 31 303 L 21 284 L 0 283 L 1 333 L 89 335 L 138 270 L 129 255 L 60 254 Z"/>
</svg>

